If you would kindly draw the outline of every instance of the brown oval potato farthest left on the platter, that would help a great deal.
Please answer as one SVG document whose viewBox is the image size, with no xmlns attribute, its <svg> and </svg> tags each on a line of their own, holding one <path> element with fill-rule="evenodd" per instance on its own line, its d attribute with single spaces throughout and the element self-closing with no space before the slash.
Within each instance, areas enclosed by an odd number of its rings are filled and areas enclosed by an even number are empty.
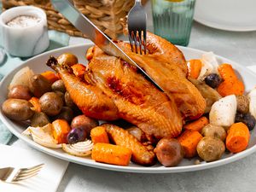
<svg viewBox="0 0 256 192">
<path fill-rule="evenodd" d="M 13 120 L 27 120 L 32 117 L 32 104 L 23 99 L 8 99 L 3 102 L 3 113 Z"/>
</svg>

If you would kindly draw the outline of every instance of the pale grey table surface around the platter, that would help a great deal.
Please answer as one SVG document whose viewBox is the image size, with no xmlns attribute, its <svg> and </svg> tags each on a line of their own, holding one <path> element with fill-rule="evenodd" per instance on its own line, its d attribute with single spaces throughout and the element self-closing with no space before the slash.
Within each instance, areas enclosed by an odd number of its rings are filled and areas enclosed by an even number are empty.
<svg viewBox="0 0 256 192">
<path fill-rule="evenodd" d="M 146 9 L 152 31 L 150 3 Z M 224 32 L 194 22 L 189 47 L 213 51 L 244 66 L 256 65 L 256 32 Z M 111 172 L 70 163 L 57 191 L 252 192 L 255 183 L 256 153 L 229 165 L 175 174 Z"/>
</svg>

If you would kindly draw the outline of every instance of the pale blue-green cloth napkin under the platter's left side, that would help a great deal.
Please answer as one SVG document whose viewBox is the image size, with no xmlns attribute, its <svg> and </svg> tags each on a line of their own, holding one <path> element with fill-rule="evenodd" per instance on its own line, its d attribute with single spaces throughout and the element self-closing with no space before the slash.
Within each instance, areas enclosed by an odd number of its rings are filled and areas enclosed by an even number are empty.
<svg viewBox="0 0 256 192">
<path fill-rule="evenodd" d="M 0 3 L 0 13 L 1 13 L 1 3 Z M 63 32 L 49 31 L 49 48 L 57 49 L 60 47 L 67 46 L 69 44 L 69 36 Z M 1 47 L 0 47 L 1 49 Z M 46 50 L 46 51 L 47 51 Z M 0 81 L 4 75 L 12 71 L 15 67 L 20 66 L 23 61 L 26 61 L 29 58 L 19 58 L 6 54 L 6 58 L 3 63 L 0 63 Z M 12 134 L 8 128 L 3 125 L 3 122 L 0 120 L 0 143 L 7 144 L 11 139 Z"/>
</svg>

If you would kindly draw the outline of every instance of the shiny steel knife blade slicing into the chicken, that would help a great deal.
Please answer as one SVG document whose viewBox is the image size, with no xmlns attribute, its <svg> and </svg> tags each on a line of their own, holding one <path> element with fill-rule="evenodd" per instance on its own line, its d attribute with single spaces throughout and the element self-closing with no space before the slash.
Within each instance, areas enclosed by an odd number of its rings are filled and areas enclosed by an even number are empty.
<svg viewBox="0 0 256 192">
<path fill-rule="evenodd" d="M 95 26 L 86 16 L 81 14 L 78 9 L 70 3 L 69 0 L 51 0 L 55 9 L 58 10 L 61 15 L 64 15 L 73 26 L 75 26 L 80 32 L 84 33 L 86 37 L 90 38 L 99 48 L 101 48 L 108 55 L 117 56 L 124 61 L 130 63 L 132 66 L 143 73 L 159 90 L 164 91 L 159 84 L 157 84 L 142 67 L 138 66 L 135 61 L 131 59 L 122 49 L 113 43 L 97 26 Z"/>
</svg>

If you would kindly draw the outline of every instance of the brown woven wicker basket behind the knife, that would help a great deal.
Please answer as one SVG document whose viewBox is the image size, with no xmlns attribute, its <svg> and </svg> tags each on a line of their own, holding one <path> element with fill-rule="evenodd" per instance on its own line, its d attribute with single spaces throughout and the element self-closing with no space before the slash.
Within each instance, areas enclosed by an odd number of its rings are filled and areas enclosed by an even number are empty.
<svg viewBox="0 0 256 192">
<path fill-rule="evenodd" d="M 143 3 L 146 1 L 144 0 Z M 49 29 L 66 32 L 71 36 L 84 37 L 68 20 L 53 9 L 50 0 L 2 0 L 2 2 L 3 10 L 20 5 L 37 6 L 44 9 Z M 134 0 L 73 0 L 73 3 L 102 32 L 108 34 L 110 38 L 117 38 L 117 35 L 122 32 L 119 20 L 127 15 Z"/>
</svg>

